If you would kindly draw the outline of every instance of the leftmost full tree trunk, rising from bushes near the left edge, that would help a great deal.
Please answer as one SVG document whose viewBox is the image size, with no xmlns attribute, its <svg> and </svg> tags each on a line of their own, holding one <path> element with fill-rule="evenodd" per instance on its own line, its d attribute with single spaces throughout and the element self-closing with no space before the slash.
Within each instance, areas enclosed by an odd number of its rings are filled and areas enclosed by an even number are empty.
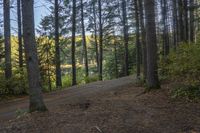
<svg viewBox="0 0 200 133">
<path fill-rule="evenodd" d="M 10 0 L 3 0 L 4 9 L 4 43 L 5 43 L 5 78 L 12 77 L 11 38 L 10 38 Z"/>
</svg>

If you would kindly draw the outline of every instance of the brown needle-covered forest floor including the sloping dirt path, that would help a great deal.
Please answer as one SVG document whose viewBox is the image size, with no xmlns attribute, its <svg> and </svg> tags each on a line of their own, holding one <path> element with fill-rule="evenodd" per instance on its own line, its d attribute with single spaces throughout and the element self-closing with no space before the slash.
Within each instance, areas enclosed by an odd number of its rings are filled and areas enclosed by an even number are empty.
<svg viewBox="0 0 200 133">
<path fill-rule="evenodd" d="M 200 133 L 200 103 L 173 100 L 170 89 L 164 83 L 162 89 L 144 93 L 133 77 L 96 82 L 45 94 L 48 112 L 15 119 L 28 98 L 1 102 L 0 132 Z"/>
</svg>

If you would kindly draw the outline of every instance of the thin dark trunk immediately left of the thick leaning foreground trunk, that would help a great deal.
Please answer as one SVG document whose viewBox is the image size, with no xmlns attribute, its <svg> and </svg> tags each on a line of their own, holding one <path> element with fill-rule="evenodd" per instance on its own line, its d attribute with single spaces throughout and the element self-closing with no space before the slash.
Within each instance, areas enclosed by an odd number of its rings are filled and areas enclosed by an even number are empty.
<svg viewBox="0 0 200 133">
<path fill-rule="evenodd" d="M 21 0 L 17 0 L 18 44 L 19 44 L 19 68 L 23 69 L 23 45 L 22 45 L 22 17 Z M 20 70 L 20 71 L 21 71 Z"/>
</svg>

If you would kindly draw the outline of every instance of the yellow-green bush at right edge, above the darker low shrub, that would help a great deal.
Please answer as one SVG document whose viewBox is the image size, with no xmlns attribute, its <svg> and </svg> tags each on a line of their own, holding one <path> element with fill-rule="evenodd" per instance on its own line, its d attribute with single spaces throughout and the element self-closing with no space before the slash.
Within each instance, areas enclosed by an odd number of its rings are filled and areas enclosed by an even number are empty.
<svg viewBox="0 0 200 133">
<path fill-rule="evenodd" d="M 171 79 L 187 85 L 200 83 L 200 46 L 181 44 L 176 52 L 171 52 L 160 63 L 159 72 Z"/>
</svg>

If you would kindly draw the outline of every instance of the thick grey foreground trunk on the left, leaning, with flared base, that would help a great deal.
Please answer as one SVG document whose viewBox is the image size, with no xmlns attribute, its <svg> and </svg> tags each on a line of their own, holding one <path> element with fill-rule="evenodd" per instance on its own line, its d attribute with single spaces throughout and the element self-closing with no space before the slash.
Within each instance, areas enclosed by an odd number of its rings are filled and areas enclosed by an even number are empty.
<svg viewBox="0 0 200 133">
<path fill-rule="evenodd" d="M 24 47 L 30 93 L 30 112 L 46 111 L 40 84 L 40 72 L 35 40 L 33 0 L 22 0 Z"/>
</svg>

